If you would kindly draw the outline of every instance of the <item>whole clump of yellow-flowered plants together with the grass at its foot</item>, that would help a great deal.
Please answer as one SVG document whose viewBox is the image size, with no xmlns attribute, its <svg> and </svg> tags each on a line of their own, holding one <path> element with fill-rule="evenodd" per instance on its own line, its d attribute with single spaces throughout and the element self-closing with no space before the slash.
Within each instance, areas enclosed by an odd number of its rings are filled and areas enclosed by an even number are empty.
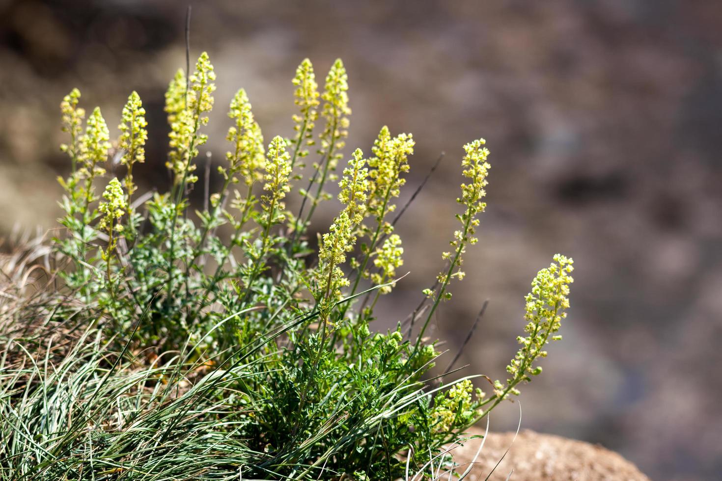
<svg viewBox="0 0 722 481">
<path fill-rule="evenodd" d="M 139 95 L 123 107 L 115 146 L 99 109 L 85 120 L 77 89 L 62 102 L 64 234 L 43 250 L 57 267 L 48 263 L 48 283 L 32 291 L 25 280 L 42 256 L 19 252 L 4 266 L 0 480 L 392 480 L 409 467 L 453 470 L 443 446 L 541 371 L 536 360 L 569 306 L 572 260 L 554 256 L 536 276 L 506 382 L 486 394 L 469 377 L 432 379 L 440 353 L 425 332 L 477 242 L 484 140 L 464 146 L 461 226 L 446 267 L 408 329 L 372 332 L 403 265 L 391 216 L 414 138 L 383 127 L 371 155 L 356 149 L 339 180 L 347 73 L 336 61 L 319 92 L 306 59 L 293 79 L 291 138 L 266 144 L 248 94 L 235 94 L 222 187 L 193 213 L 214 80 L 203 53 L 170 82 L 173 182 L 150 196 L 134 195 L 148 127 Z M 305 178 L 297 172 L 314 146 Z M 111 149 L 124 175 L 99 197 Z M 342 208 L 316 251 L 306 232 L 329 182 Z M 294 191 L 297 213 L 285 205 Z"/>
</svg>

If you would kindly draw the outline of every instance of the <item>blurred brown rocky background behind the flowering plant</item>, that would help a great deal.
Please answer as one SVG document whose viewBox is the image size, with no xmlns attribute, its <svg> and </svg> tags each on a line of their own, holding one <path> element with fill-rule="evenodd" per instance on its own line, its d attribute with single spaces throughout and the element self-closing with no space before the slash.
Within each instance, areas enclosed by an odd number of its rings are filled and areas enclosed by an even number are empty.
<svg viewBox="0 0 722 481">
<path fill-rule="evenodd" d="M 172 0 L 0 0 L 3 236 L 55 226 L 55 177 L 69 168 L 58 104 L 72 87 L 115 133 L 139 92 L 150 138 L 136 179 L 165 190 L 163 92 L 185 64 L 185 12 Z M 503 378 L 529 281 L 570 255 L 573 309 L 522 389 L 523 427 L 604 444 L 655 480 L 722 479 L 722 2 L 196 1 L 191 50 L 207 50 L 218 74 L 214 159 L 239 87 L 266 138 L 291 135 L 290 79 L 305 56 L 319 80 L 334 58 L 346 63 L 347 154 L 370 151 L 385 123 L 414 133 L 406 196 L 446 152 L 399 223 L 411 275 L 384 299 L 380 326 L 403 319 L 442 268 L 461 146 L 487 138 L 480 242 L 432 335 L 450 358 L 490 299 L 462 361 Z M 492 429 L 517 420 L 503 405 Z"/>
</svg>

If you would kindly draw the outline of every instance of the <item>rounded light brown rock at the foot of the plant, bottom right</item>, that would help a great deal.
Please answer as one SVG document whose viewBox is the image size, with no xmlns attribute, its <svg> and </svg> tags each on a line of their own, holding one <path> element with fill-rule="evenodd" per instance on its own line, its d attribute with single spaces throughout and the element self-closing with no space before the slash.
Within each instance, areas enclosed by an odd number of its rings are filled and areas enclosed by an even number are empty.
<svg viewBox="0 0 722 481">
<path fill-rule="evenodd" d="M 514 433 L 489 433 L 478 464 L 466 479 L 484 480 L 511 446 L 490 480 L 504 481 L 513 469 L 510 481 L 649 481 L 634 464 L 601 446 L 527 430 L 512 444 L 513 438 Z M 480 443 L 476 439 L 455 449 L 456 462 L 471 461 Z"/>
</svg>

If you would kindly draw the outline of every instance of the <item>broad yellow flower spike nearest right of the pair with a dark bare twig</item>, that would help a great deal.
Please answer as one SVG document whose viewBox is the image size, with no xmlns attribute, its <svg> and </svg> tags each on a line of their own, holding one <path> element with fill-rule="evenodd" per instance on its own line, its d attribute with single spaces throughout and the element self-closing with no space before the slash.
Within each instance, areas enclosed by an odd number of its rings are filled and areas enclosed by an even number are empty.
<svg viewBox="0 0 722 481">
<path fill-rule="evenodd" d="M 230 103 L 228 117 L 235 125 L 228 129 L 227 141 L 234 146 L 232 152 L 226 152 L 228 169 L 218 167 L 225 180 L 230 180 L 236 173 L 243 177 L 245 185 L 261 180 L 261 170 L 265 168 L 266 157 L 264 136 L 261 128 L 253 120 L 251 102 L 244 89 L 238 90 Z"/>
</svg>

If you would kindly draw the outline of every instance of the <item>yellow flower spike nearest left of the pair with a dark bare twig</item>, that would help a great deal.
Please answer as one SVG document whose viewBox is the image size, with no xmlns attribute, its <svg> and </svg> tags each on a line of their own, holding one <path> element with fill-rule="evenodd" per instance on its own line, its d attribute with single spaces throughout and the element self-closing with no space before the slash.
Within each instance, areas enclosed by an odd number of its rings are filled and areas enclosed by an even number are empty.
<svg viewBox="0 0 722 481">
<path fill-rule="evenodd" d="M 121 114 L 121 137 L 118 147 L 123 149 L 121 164 L 128 167 L 124 183 L 128 191 L 128 199 L 136 190 L 133 182 L 133 164 L 145 162 L 145 141 L 148 139 L 148 126 L 145 120 L 145 109 L 138 92 L 133 91 Z"/>
</svg>

